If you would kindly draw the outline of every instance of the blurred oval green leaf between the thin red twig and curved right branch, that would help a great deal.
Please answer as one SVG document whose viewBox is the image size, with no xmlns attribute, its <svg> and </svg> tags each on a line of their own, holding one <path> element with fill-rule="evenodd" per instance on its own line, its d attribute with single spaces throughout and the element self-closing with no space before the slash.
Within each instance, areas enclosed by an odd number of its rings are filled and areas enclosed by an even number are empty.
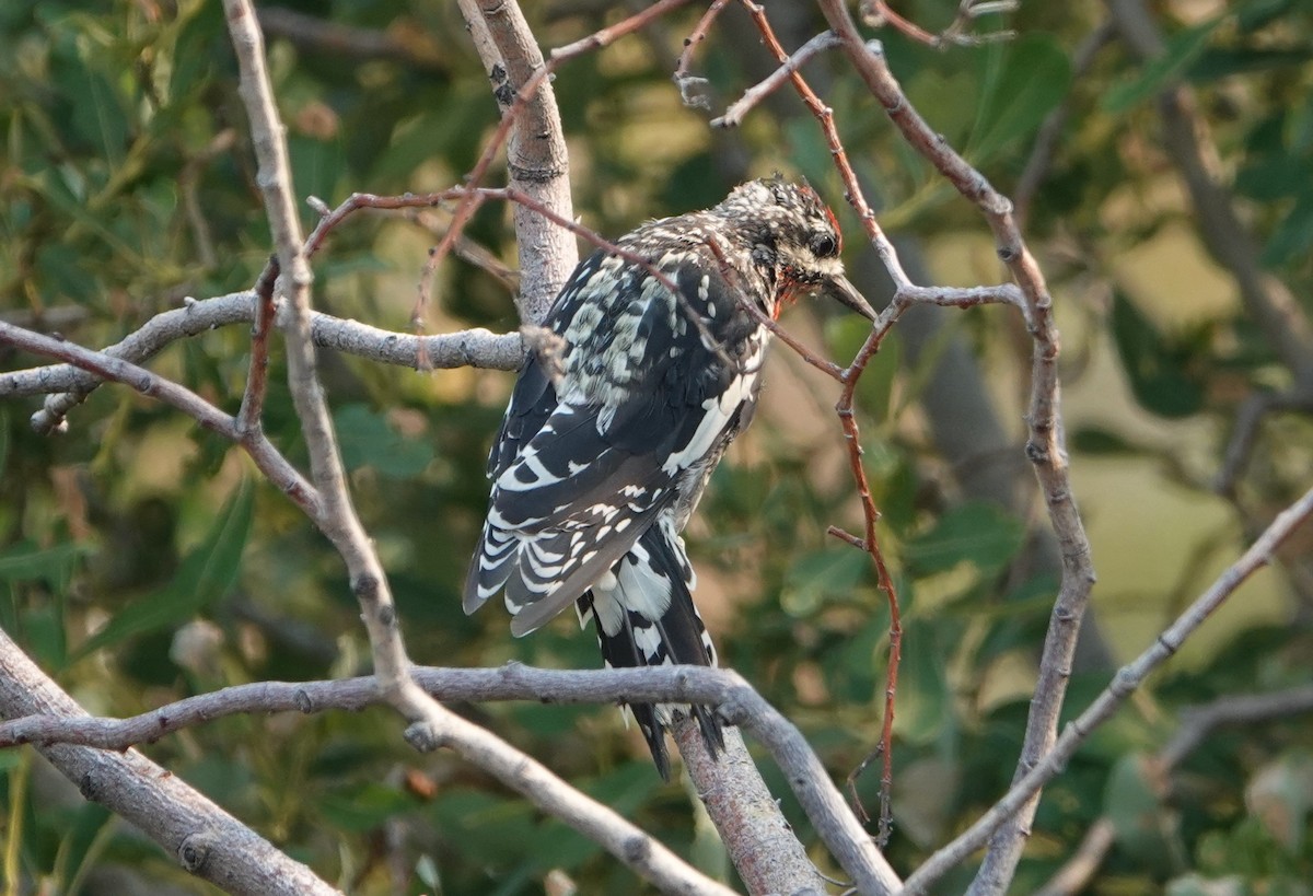
<svg viewBox="0 0 1313 896">
<path fill-rule="evenodd" d="M 1025 527 L 1006 510 L 987 501 L 969 501 L 911 539 L 903 557 L 916 575 L 945 573 L 962 562 L 990 574 L 1007 566 L 1024 539 Z"/>
</svg>

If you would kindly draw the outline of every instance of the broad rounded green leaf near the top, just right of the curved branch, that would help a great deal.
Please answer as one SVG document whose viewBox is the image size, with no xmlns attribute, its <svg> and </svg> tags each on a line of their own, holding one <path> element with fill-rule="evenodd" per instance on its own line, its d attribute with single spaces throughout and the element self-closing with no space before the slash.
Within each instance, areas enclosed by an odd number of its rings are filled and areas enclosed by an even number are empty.
<svg viewBox="0 0 1313 896">
<path fill-rule="evenodd" d="M 1027 34 L 1007 45 L 997 76 L 982 76 L 990 87 L 979 106 L 968 154 L 981 164 L 1012 141 L 1035 133 L 1062 102 L 1071 83 L 1066 51 L 1048 34 Z"/>
</svg>

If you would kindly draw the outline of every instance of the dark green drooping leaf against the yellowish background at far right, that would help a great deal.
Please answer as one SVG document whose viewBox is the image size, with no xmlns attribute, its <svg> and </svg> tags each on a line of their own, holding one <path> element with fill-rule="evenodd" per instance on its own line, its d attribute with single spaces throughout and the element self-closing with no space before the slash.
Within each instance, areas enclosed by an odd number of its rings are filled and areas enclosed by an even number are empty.
<svg viewBox="0 0 1313 896">
<path fill-rule="evenodd" d="M 1203 389 L 1186 373 L 1187 352 L 1170 344 L 1121 290 L 1112 296 L 1112 338 L 1136 401 L 1159 416 L 1199 411 Z"/>
</svg>

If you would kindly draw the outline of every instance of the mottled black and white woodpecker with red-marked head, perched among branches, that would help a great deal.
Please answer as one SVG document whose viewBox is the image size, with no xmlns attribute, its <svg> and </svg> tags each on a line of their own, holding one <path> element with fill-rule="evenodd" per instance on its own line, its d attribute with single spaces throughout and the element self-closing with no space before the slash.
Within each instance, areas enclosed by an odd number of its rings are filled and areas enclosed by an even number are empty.
<svg viewBox="0 0 1313 896">
<path fill-rule="evenodd" d="M 607 667 L 717 665 L 680 533 L 752 419 L 772 338 L 764 319 L 825 293 L 876 321 L 840 248 L 817 192 L 776 175 L 710 209 L 649 221 L 583 260 L 544 319 L 550 338 L 524 361 L 490 452 L 465 612 L 504 591 L 511 632 L 523 636 L 574 604 Z M 696 719 L 713 755 L 723 749 L 706 707 L 629 709 L 667 780 L 674 712 Z"/>
</svg>

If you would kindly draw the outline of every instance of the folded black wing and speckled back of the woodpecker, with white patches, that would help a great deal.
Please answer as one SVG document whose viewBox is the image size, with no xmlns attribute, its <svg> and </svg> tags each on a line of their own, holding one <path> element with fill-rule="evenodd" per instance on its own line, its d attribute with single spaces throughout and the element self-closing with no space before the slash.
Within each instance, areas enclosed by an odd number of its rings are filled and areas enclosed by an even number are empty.
<svg viewBox="0 0 1313 896">
<path fill-rule="evenodd" d="M 465 610 L 503 587 L 512 632 L 528 633 L 611 573 L 689 470 L 718 456 L 756 398 L 759 357 L 726 364 L 688 306 L 720 332 L 734 296 L 714 260 L 681 256 L 667 276 L 595 254 L 562 290 L 548 326 L 565 339 L 553 384 L 529 359 L 490 457 L 494 478 Z M 721 349 L 723 352 L 723 349 Z"/>
</svg>

